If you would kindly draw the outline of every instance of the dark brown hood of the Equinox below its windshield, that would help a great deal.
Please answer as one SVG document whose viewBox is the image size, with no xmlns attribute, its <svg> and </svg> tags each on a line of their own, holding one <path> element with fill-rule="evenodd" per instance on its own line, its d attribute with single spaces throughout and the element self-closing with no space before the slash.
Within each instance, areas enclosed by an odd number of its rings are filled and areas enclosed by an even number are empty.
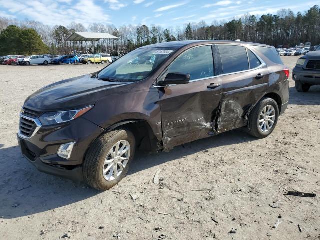
<svg viewBox="0 0 320 240">
<path fill-rule="evenodd" d="M 24 107 L 36 111 L 77 109 L 95 104 L 102 97 L 133 87 L 132 83 L 102 81 L 78 76 L 45 86 L 30 95 Z"/>
</svg>

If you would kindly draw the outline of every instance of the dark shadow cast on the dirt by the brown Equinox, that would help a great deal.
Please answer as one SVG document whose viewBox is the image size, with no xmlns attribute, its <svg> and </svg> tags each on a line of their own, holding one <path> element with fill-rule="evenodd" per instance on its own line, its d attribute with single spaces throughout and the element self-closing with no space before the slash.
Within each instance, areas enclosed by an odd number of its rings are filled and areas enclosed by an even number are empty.
<svg viewBox="0 0 320 240">
<path fill-rule="evenodd" d="M 237 129 L 175 147 L 170 152 L 137 152 L 128 174 L 206 149 L 253 140 L 256 138 Z M 0 216 L 3 218 L 30 216 L 101 194 L 83 182 L 39 172 L 22 156 L 18 146 L 0 148 L 0 165 Z"/>
</svg>

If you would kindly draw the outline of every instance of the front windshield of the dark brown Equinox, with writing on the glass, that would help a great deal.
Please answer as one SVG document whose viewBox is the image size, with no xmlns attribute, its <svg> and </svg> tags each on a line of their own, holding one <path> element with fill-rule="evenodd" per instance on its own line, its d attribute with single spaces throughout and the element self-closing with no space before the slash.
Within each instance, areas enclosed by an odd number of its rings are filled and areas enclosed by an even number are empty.
<svg viewBox="0 0 320 240">
<path fill-rule="evenodd" d="M 99 79 L 117 82 L 140 81 L 148 77 L 176 48 L 140 48 L 122 56 L 97 74 Z"/>
</svg>

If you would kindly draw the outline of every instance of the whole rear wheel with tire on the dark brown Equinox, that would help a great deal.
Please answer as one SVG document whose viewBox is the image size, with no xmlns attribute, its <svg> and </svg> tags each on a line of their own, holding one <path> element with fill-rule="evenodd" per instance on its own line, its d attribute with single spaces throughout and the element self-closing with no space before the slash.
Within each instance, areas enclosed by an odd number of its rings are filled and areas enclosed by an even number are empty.
<svg viewBox="0 0 320 240">
<path fill-rule="evenodd" d="M 272 110 L 272 112 L 270 112 L 269 115 L 263 114 L 264 111 L 268 113 L 268 111 L 270 110 Z M 263 119 L 261 114 L 266 115 L 266 118 Z M 269 116 L 273 116 L 273 114 L 274 114 L 274 117 L 270 118 Z M 279 117 L 279 107 L 276 101 L 273 100 L 272 98 L 263 97 L 256 104 L 256 106 L 253 108 L 252 112 L 249 115 L 249 123 L 248 123 L 249 133 L 252 136 L 255 136 L 257 138 L 267 137 L 274 130 L 276 123 L 278 121 L 278 117 Z M 261 120 L 263 121 L 260 122 Z"/>
</svg>

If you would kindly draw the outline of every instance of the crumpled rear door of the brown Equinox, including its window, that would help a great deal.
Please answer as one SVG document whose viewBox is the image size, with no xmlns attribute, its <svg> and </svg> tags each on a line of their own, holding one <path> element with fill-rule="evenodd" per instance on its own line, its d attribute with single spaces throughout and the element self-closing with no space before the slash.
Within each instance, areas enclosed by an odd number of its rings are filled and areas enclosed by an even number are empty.
<svg viewBox="0 0 320 240">
<path fill-rule="evenodd" d="M 216 131 L 231 130 L 246 124 L 247 114 L 267 92 L 269 71 L 250 49 L 219 44 L 223 75 L 223 95 Z"/>
</svg>

